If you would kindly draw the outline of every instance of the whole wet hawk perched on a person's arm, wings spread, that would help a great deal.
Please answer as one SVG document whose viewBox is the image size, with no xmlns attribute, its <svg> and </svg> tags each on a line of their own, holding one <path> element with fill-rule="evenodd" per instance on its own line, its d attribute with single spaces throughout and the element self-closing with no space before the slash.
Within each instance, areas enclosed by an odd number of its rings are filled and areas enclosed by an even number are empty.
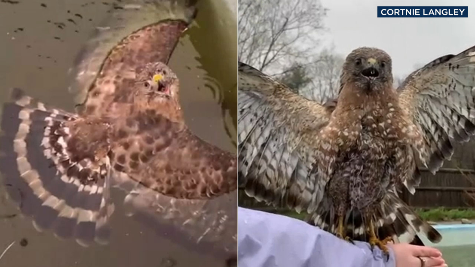
<svg viewBox="0 0 475 267">
<path fill-rule="evenodd" d="M 441 235 L 398 197 L 418 166 L 435 173 L 475 132 L 475 47 L 439 57 L 393 88 L 390 56 L 353 50 L 336 106 L 239 65 L 239 185 L 249 196 L 309 213 L 341 238 L 423 245 Z"/>
</svg>

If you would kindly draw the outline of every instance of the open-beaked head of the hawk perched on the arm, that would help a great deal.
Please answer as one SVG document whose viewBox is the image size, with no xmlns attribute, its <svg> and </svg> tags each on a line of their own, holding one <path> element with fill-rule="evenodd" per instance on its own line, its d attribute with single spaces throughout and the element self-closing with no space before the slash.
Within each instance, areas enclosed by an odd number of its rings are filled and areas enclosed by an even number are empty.
<svg viewBox="0 0 475 267">
<path fill-rule="evenodd" d="M 368 93 L 392 86 L 391 57 L 378 48 L 354 49 L 343 64 L 341 84 L 347 82 Z"/>
</svg>

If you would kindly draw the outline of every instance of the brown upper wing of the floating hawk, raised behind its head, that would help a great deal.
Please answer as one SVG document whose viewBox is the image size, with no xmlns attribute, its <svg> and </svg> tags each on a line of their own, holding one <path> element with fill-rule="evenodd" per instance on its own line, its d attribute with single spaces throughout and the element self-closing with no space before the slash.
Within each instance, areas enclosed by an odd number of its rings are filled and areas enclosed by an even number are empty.
<svg viewBox="0 0 475 267">
<path fill-rule="evenodd" d="M 123 101 L 121 98 L 128 95 L 136 68 L 149 62 L 168 62 L 187 27 L 188 23 L 182 20 L 165 20 L 123 38 L 104 60 L 80 110 L 84 114 L 101 115 L 108 112 L 111 103 Z"/>
</svg>

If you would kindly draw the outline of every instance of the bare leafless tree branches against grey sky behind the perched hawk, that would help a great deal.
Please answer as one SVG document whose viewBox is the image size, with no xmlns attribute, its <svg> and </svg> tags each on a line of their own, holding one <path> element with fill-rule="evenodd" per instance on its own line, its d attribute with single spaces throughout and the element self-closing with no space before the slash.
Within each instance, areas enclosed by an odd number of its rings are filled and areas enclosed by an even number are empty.
<svg viewBox="0 0 475 267">
<path fill-rule="evenodd" d="M 240 0 L 239 61 L 283 72 L 315 49 L 326 9 L 318 0 Z"/>
</svg>

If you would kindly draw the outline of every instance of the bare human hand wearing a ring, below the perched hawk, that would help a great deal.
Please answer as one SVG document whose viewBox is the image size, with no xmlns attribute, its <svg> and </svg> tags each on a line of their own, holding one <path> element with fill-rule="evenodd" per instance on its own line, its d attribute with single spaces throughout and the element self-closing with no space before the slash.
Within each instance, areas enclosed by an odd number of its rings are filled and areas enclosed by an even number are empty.
<svg viewBox="0 0 475 267">
<path fill-rule="evenodd" d="M 388 244 L 394 251 L 396 267 L 447 267 L 437 248 L 409 244 Z M 419 259 L 425 260 L 425 263 Z"/>
</svg>

